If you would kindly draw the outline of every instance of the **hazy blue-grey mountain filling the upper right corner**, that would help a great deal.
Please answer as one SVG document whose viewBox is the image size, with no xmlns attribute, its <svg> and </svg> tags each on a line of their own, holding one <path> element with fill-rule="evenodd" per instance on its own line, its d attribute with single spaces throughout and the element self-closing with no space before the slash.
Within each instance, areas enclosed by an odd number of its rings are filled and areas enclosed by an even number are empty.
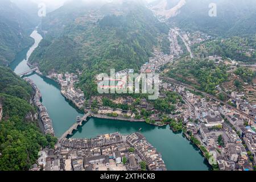
<svg viewBox="0 0 256 182">
<path fill-rule="evenodd" d="M 171 0 L 167 0 L 170 1 Z M 256 33 L 256 1 L 217 0 L 217 16 L 209 16 L 211 0 L 186 0 L 179 14 L 170 18 L 174 26 L 211 35 L 234 36 Z"/>
</svg>

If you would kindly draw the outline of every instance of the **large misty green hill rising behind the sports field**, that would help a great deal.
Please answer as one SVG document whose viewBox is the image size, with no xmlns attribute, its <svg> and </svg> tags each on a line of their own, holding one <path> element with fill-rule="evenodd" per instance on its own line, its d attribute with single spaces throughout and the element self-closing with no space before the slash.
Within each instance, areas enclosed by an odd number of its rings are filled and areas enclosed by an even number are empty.
<svg viewBox="0 0 256 182">
<path fill-rule="evenodd" d="M 93 10 L 73 6 L 54 11 L 42 24 L 48 32 L 30 62 L 38 64 L 45 74 L 53 69 L 74 72 L 78 68 L 97 73 L 110 68 L 139 69 L 151 56 L 152 47 L 168 33 L 166 24 L 134 2 L 115 8 L 111 3 L 93 6 Z"/>
</svg>

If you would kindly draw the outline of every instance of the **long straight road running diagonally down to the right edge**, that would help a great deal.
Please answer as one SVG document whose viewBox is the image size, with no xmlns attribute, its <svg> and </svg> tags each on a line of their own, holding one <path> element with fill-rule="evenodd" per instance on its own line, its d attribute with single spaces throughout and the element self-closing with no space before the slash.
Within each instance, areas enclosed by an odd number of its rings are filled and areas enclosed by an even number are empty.
<svg viewBox="0 0 256 182">
<path fill-rule="evenodd" d="M 227 102 L 221 101 L 221 100 L 219 100 L 218 98 L 216 98 L 216 97 L 214 97 L 214 96 L 212 96 L 212 95 L 210 95 L 210 94 L 208 94 L 208 93 L 205 93 L 205 92 L 202 92 L 202 91 L 200 91 L 200 90 L 197 90 L 197 89 L 194 88 L 193 86 L 190 86 L 190 85 L 187 85 L 187 84 L 183 84 L 183 82 L 177 81 L 177 80 L 175 80 L 174 78 L 168 78 L 168 77 L 159 77 L 159 78 L 160 78 L 160 79 L 163 79 L 163 80 L 166 80 L 166 81 L 170 81 L 170 82 L 172 82 L 172 84 L 177 85 L 177 86 L 180 86 L 180 85 L 181 85 L 181 86 L 184 86 L 184 88 L 186 88 L 186 89 L 193 90 L 194 92 L 199 92 L 199 93 L 203 94 L 204 96 L 207 96 L 207 97 L 209 97 L 209 98 L 212 98 L 212 99 L 215 100 L 215 101 L 220 102 L 221 104 L 224 104 L 224 105 L 226 105 L 226 106 L 232 107 L 233 110 L 236 110 L 238 113 L 240 113 L 240 114 L 242 114 L 242 115 L 246 115 L 247 118 L 250 118 L 250 119 L 252 119 L 252 120 L 255 122 L 254 117 L 251 117 L 250 115 L 246 114 L 246 113 L 243 112 L 242 110 L 239 110 L 239 109 L 237 109 L 236 107 L 230 106 Z"/>
</svg>

